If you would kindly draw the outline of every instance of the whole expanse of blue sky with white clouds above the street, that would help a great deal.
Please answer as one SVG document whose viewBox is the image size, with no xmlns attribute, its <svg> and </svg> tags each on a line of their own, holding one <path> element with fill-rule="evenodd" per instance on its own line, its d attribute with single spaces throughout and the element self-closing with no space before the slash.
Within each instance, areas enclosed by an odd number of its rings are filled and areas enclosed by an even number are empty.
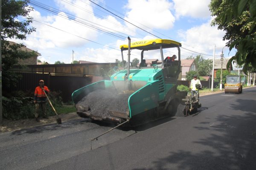
<svg viewBox="0 0 256 170">
<path fill-rule="evenodd" d="M 213 46 L 216 58 L 219 58 L 225 43 L 222 40 L 224 31 L 211 27 L 212 17 L 208 8 L 210 0 L 32 0 L 34 7 L 30 16 L 34 18 L 32 26 L 36 32 L 27 36 L 26 40 L 17 41 L 26 45 L 41 56 L 41 61 L 54 64 L 74 60 L 91 62 L 115 62 L 121 60 L 119 45 L 131 41 L 152 39 L 172 39 L 182 43 L 181 57 L 196 56 L 212 58 Z M 93 3 L 92 3 L 93 2 Z M 55 14 L 39 8 L 54 8 Z M 97 4 L 97 5 L 96 5 Z M 144 29 L 137 28 L 130 23 Z M 72 20 L 73 19 L 73 20 Z M 74 21 L 75 20 L 75 21 Z M 111 31 L 111 35 L 96 28 Z M 150 32 L 151 34 L 147 33 Z M 153 35 L 152 35 L 153 34 Z M 194 51 L 194 52 L 192 52 Z M 228 54 L 224 48 L 224 57 Z M 131 53 L 132 54 L 132 53 Z M 165 55 L 172 55 L 172 52 Z M 131 59 L 140 58 L 134 52 Z M 159 58 L 156 55 L 149 59 Z"/>
</svg>

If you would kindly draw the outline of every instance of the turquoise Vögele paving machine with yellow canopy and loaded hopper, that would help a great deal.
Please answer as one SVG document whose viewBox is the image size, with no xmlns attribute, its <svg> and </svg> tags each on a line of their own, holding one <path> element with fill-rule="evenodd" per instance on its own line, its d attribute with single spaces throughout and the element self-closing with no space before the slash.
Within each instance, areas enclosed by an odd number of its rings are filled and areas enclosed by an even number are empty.
<svg viewBox="0 0 256 170">
<path fill-rule="evenodd" d="M 81 117 L 138 125 L 166 116 L 184 116 L 186 92 L 177 91 L 181 43 L 173 40 L 141 40 L 121 45 L 123 68 L 115 67 L 110 80 L 87 85 L 73 92 Z M 173 53 L 164 57 L 164 53 Z M 140 54 L 140 64 L 131 65 L 130 55 Z M 125 64 L 124 52 L 128 54 Z M 157 54 L 161 60 L 145 59 Z M 177 56 L 177 57 L 176 57 Z M 152 58 L 152 57 L 151 57 Z M 98 93 L 97 93 L 98 92 Z M 181 108 L 181 109 L 180 109 Z"/>
</svg>

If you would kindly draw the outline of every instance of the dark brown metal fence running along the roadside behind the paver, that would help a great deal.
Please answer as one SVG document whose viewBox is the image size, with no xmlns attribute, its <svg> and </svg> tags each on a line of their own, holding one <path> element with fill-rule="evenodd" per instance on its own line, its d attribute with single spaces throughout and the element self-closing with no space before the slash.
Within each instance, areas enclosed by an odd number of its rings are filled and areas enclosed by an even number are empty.
<svg viewBox="0 0 256 170">
<path fill-rule="evenodd" d="M 102 76 L 56 76 L 51 74 L 35 74 L 35 73 L 19 73 L 22 75 L 22 78 L 17 84 L 17 87 L 11 87 L 9 91 L 31 91 L 32 93 L 35 90 L 35 87 L 38 86 L 39 80 L 43 79 L 44 84 L 50 89 L 50 91 L 56 91 L 60 93 L 63 102 L 72 101 L 72 93 L 79 88 L 82 88 L 86 85 L 89 85 L 93 82 L 98 82 L 101 80 L 110 80 L 110 77 Z M 186 85 L 189 87 L 189 81 L 177 81 L 178 85 Z M 204 88 L 209 88 L 208 81 L 201 81 L 201 84 Z M 214 82 L 214 87 L 218 83 Z M 211 83 L 210 83 L 211 88 Z"/>
</svg>

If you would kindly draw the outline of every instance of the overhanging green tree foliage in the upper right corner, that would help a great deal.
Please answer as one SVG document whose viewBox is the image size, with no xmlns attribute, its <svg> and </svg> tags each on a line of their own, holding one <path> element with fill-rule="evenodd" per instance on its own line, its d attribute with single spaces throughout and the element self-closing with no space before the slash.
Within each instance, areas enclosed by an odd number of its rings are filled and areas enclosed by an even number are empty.
<svg viewBox="0 0 256 170">
<path fill-rule="evenodd" d="M 256 1 L 255 0 L 211 0 L 209 9 L 212 16 L 212 26 L 224 30 L 223 40 L 228 40 L 229 49 L 236 48 L 236 55 L 231 62 L 244 65 L 243 71 L 256 68 Z"/>
</svg>

